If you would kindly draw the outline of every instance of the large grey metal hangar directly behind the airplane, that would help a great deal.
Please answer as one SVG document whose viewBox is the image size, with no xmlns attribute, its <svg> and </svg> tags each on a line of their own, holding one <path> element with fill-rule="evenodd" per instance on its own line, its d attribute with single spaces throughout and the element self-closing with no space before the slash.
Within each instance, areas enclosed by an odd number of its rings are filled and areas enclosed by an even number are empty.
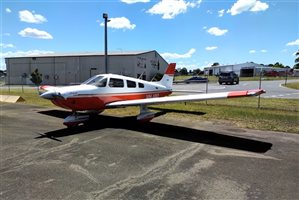
<svg viewBox="0 0 299 200">
<path fill-rule="evenodd" d="M 30 74 L 38 69 L 46 85 L 81 83 L 105 72 L 104 53 L 41 54 L 5 58 L 7 84 L 32 84 Z M 109 52 L 108 73 L 151 80 L 163 74 L 168 63 L 155 50 Z"/>
</svg>

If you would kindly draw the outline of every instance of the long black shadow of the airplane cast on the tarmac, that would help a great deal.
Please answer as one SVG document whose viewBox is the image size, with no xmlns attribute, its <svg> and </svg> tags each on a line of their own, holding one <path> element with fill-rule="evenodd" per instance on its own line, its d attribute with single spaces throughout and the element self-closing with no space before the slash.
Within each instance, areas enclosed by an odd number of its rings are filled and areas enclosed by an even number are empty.
<svg viewBox="0 0 299 200">
<path fill-rule="evenodd" d="M 70 114 L 66 111 L 57 110 L 43 111 L 40 113 L 51 116 L 53 116 L 52 114 L 56 113 L 54 114 L 54 116 L 61 118 L 64 118 Z M 95 116 L 87 124 L 75 128 L 64 128 L 40 134 L 40 136 L 36 137 L 36 139 L 49 138 L 56 141 L 61 141 L 58 138 L 94 130 L 101 130 L 105 128 L 126 129 L 160 137 L 167 137 L 256 153 L 265 153 L 272 147 L 272 144 L 268 142 L 225 135 L 219 132 L 216 133 L 157 122 L 141 123 L 136 121 L 136 117 L 114 117 L 105 115 Z"/>
</svg>

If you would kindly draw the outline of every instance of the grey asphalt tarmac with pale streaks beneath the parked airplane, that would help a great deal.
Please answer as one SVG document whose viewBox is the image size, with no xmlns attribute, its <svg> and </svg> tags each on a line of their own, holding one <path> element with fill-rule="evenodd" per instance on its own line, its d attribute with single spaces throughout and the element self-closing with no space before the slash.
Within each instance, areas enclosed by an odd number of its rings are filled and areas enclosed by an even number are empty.
<svg viewBox="0 0 299 200">
<path fill-rule="evenodd" d="M 0 199 L 299 199 L 297 134 L 68 114 L 1 104 Z"/>
</svg>

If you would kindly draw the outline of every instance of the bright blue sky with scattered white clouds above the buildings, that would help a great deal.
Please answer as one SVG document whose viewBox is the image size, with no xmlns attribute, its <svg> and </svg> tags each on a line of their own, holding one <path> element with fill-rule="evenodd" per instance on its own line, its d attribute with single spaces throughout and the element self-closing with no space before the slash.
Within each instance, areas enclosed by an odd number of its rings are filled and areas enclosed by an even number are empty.
<svg viewBox="0 0 299 200">
<path fill-rule="evenodd" d="M 1 0 L 4 57 L 157 50 L 188 69 L 214 62 L 294 65 L 298 0 Z"/>
</svg>

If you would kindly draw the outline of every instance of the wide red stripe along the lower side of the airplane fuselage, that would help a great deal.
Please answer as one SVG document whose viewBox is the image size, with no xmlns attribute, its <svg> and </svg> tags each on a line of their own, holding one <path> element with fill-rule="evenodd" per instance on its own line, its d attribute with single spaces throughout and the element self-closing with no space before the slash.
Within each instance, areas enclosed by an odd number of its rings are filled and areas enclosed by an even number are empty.
<svg viewBox="0 0 299 200">
<path fill-rule="evenodd" d="M 73 111 L 103 110 L 106 104 L 116 101 L 146 99 L 164 97 L 170 95 L 170 91 L 147 92 L 147 93 L 124 93 L 124 94 L 96 94 L 74 96 L 67 99 L 54 99 L 52 102 L 59 107 Z"/>
</svg>

